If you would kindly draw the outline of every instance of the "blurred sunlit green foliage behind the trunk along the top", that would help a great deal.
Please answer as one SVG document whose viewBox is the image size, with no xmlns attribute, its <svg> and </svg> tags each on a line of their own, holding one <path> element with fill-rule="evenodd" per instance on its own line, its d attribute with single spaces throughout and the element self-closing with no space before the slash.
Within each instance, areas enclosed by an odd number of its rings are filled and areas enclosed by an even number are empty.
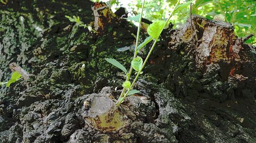
<svg viewBox="0 0 256 143">
<path fill-rule="evenodd" d="M 97 0 L 99 1 L 99 0 Z M 111 0 L 111 5 L 120 5 L 126 0 Z M 188 1 L 181 1 L 186 3 Z M 147 0 L 145 4 L 144 18 L 155 21 L 165 19 L 173 10 L 177 0 Z M 226 22 L 234 25 L 234 32 L 238 37 L 245 37 L 249 34 L 256 34 L 256 1 L 255 0 L 194 0 L 192 1 L 192 14 L 212 19 L 215 15 L 222 14 Z M 131 0 L 129 6 L 136 14 L 140 11 L 141 0 Z M 175 27 L 180 27 L 189 17 L 189 5 L 182 7 L 171 19 Z M 246 43 L 256 45 L 256 38 L 253 36 Z"/>
</svg>

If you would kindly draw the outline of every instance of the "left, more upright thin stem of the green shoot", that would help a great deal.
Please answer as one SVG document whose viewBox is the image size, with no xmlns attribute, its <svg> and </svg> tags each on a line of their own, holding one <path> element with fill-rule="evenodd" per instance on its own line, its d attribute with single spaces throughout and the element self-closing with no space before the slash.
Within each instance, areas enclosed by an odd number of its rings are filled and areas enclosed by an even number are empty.
<svg viewBox="0 0 256 143">
<path fill-rule="evenodd" d="M 143 1 L 142 7 L 141 7 L 141 14 L 140 14 L 139 25 L 138 25 L 138 30 L 137 30 L 137 37 L 136 37 L 136 44 L 135 44 L 133 59 L 135 59 L 136 56 L 137 56 L 137 48 L 138 48 L 138 45 L 139 45 L 140 26 L 141 26 L 141 19 L 142 19 L 142 12 L 143 12 L 143 9 L 144 9 L 144 4 L 145 4 L 145 0 Z M 127 77 L 126 77 L 126 81 L 129 81 L 129 80 L 130 80 L 130 76 L 131 76 L 131 74 L 132 74 L 132 71 L 133 71 L 133 67 L 132 67 L 132 65 L 131 65 L 130 70 L 129 70 L 129 73 L 127 74 Z M 123 97 L 125 91 L 126 91 L 126 89 L 123 88 L 123 91 L 122 91 L 122 93 L 121 93 L 121 95 L 120 95 L 119 98 L 122 98 L 122 97 Z"/>
</svg>

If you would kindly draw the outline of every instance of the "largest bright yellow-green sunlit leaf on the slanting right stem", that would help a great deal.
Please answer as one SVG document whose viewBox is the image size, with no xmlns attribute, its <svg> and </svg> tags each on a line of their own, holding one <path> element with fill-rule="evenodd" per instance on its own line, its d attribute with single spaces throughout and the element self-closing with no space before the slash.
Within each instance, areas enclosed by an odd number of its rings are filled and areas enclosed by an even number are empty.
<svg viewBox="0 0 256 143">
<path fill-rule="evenodd" d="M 161 32 L 163 31 L 164 25 L 165 21 L 163 20 L 157 20 L 153 22 L 147 28 L 148 35 L 150 35 L 154 39 L 157 39 L 160 36 Z"/>
</svg>

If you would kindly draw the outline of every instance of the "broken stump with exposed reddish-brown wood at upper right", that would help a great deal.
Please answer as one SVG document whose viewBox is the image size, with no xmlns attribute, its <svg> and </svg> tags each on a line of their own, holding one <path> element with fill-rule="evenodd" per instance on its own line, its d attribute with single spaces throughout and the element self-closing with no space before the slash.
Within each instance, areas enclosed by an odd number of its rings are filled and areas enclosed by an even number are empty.
<svg viewBox="0 0 256 143">
<path fill-rule="evenodd" d="M 189 20 L 188 20 L 189 21 Z M 234 75 L 241 65 L 248 62 L 246 46 L 242 38 L 234 33 L 233 26 L 227 22 L 209 20 L 201 16 L 192 16 L 193 31 L 196 32 L 197 41 L 192 47 L 195 55 L 196 67 L 206 72 L 207 67 L 220 64 L 223 71 L 222 78 Z M 169 42 L 191 42 L 192 32 L 190 23 L 177 31 L 177 40 Z"/>
</svg>

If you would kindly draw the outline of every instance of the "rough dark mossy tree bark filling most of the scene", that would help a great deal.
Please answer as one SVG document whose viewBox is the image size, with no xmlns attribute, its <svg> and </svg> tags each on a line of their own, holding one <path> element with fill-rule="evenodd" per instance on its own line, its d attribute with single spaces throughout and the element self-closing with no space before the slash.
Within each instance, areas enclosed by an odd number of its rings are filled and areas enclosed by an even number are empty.
<svg viewBox="0 0 256 143">
<path fill-rule="evenodd" d="M 116 107 L 124 75 L 104 58 L 129 66 L 136 34 L 121 15 L 90 1 L 1 7 L 0 80 L 13 62 L 30 76 L 1 87 L 0 142 L 256 142 L 255 46 L 226 22 L 194 15 L 164 30 L 140 93 Z"/>
</svg>

